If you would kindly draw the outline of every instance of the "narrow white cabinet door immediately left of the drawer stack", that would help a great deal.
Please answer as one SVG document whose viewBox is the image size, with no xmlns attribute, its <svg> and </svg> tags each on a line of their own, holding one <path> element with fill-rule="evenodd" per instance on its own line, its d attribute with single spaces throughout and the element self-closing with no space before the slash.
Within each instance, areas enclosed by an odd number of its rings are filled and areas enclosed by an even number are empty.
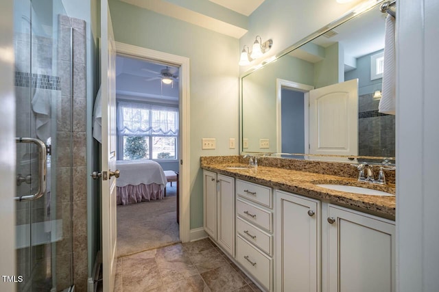
<svg viewBox="0 0 439 292">
<path fill-rule="evenodd" d="M 217 175 L 217 242 L 235 256 L 235 179 Z"/>
</svg>

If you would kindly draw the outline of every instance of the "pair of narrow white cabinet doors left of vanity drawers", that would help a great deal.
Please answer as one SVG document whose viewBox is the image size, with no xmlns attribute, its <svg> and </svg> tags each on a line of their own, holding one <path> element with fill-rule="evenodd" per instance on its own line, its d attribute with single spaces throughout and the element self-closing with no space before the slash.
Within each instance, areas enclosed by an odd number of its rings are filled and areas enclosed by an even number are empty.
<svg viewBox="0 0 439 292">
<path fill-rule="evenodd" d="M 204 230 L 235 256 L 235 178 L 203 171 Z"/>
</svg>

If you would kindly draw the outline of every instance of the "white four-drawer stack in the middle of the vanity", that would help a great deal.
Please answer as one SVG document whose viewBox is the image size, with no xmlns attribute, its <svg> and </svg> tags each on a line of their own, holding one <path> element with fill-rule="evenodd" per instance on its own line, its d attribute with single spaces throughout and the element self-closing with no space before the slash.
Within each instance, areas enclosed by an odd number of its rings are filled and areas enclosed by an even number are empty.
<svg viewBox="0 0 439 292">
<path fill-rule="evenodd" d="M 270 187 L 236 181 L 236 261 L 273 291 L 273 195 Z"/>
</svg>

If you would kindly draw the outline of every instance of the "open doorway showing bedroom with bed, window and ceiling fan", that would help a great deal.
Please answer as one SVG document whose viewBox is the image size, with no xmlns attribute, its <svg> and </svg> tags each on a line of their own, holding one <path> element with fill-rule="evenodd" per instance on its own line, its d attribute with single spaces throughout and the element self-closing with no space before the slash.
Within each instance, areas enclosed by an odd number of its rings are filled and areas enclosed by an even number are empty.
<svg viewBox="0 0 439 292">
<path fill-rule="evenodd" d="M 118 257 L 180 242 L 179 80 L 180 66 L 116 57 Z"/>
</svg>

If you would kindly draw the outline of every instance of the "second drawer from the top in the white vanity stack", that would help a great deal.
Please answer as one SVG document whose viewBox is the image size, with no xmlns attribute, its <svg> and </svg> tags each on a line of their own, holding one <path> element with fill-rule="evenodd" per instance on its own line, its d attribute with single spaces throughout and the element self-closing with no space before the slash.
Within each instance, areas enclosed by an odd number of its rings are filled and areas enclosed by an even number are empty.
<svg viewBox="0 0 439 292">
<path fill-rule="evenodd" d="M 253 204 L 248 204 L 247 202 L 236 200 L 236 212 L 241 217 L 256 224 L 261 228 L 273 231 L 273 213 L 266 211 L 262 208 L 256 207 Z"/>
</svg>

